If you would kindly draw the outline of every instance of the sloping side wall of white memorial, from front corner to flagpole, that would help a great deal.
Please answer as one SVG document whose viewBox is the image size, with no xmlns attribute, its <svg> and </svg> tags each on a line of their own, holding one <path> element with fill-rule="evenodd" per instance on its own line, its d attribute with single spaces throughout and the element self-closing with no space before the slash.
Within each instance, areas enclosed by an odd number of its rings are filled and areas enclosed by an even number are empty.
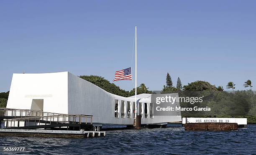
<svg viewBox="0 0 256 155">
<path fill-rule="evenodd" d="M 68 81 L 69 114 L 93 115 L 93 122 L 100 124 L 133 124 L 133 119 L 121 119 L 121 100 L 127 101 L 128 98 L 110 94 L 70 73 Z M 119 119 L 115 118 L 115 99 L 119 100 Z"/>
</svg>

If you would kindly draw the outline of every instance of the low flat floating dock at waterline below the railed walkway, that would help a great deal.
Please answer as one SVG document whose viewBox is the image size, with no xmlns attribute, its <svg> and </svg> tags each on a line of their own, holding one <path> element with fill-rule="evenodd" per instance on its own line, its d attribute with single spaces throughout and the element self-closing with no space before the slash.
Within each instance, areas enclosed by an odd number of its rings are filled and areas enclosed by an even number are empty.
<svg viewBox="0 0 256 155">
<path fill-rule="evenodd" d="M 105 131 L 0 129 L 0 136 L 87 138 L 105 136 Z"/>
</svg>

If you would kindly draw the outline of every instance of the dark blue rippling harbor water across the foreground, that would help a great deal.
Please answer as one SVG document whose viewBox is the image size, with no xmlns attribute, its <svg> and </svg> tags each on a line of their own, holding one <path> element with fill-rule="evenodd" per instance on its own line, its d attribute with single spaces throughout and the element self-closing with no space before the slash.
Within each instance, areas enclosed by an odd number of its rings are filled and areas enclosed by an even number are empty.
<svg viewBox="0 0 256 155">
<path fill-rule="evenodd" d="M 106 137 L 84 139 L 0 137 L 0 147 L 9 146 L 27 147 L 23 153 L 42 155 L 256 154 L 256 125 L 230 132 L 192 132 L 170 124 L 167 128 L 111 130 Z"/>
</svg>

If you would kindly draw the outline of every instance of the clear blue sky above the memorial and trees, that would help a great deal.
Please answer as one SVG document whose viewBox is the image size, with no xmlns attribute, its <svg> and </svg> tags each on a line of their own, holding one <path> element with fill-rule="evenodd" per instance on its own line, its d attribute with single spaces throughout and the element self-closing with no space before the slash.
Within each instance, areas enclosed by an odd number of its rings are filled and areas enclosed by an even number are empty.
<svg viewBox="0 0 256 155">
<path fill-rule="evenodd" d="M 116 70 L 135 66 L 135 25 L 138 84 L 161 90 L 169 72 L 175 85 L 179 76 L 183 85 L 233 81 L 242 90 L 251 79 L 256 87 L 255 0 L 1 0 L 0 92 L 23 70 L 112 81 Z"/>
</svg>

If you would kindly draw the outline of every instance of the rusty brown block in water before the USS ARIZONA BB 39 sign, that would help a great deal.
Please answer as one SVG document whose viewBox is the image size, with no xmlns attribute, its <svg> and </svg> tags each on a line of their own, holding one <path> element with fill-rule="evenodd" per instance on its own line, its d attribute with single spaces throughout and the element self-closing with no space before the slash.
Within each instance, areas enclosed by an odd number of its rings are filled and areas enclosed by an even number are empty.
<svg viewBox="0 0 256 155">
<path fill-rule="evenodd" d="M 237 123 L 187 123 L 185 130 L 190 131 L 231 131 L 237 130 Z"/>
</svg>

